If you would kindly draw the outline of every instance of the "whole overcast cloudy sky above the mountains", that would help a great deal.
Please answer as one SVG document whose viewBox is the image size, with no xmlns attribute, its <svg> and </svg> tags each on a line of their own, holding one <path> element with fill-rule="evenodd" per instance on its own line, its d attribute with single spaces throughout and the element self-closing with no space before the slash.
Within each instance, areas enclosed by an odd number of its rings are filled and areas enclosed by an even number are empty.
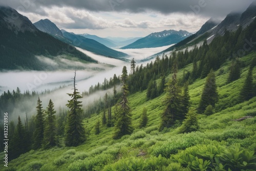
<svg viewBox="0 0 256 171">
<path fill-rule="evenodd" d="M 244 11 L 253 0 L 0 0 L 32 23 L 101 37 L 143 37 L 163 30 L 196 32 L 210 18 Z"/>
</svg>

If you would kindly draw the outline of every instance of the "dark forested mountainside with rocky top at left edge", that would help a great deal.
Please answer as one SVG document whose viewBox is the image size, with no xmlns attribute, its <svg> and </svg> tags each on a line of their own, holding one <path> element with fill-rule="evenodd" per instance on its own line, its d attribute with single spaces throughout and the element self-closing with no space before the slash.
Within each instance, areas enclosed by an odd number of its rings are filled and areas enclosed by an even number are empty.
<svg viewBox="0 0 256 171">
<path fill-rule="evenodd" d="M 0 70 L 44 70 L 46 63 L 36 55 L 53 58 L 68 55 L 84 61 L 97 62 L 70 45 L 39 31 L 30 20 L 10 7 L 0 6 Z M 72 49 L 72 51 L 70 50 Z"/>
</svg>

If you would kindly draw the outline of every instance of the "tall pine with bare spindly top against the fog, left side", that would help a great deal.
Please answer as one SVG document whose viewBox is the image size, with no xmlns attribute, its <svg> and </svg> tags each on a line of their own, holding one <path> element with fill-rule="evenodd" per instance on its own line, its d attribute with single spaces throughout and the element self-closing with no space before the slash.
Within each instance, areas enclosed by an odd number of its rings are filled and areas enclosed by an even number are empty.
<svg viewBox="0 0 256 171">
<path fill-rule="evenodd" d="M 68 100 L 69 103 L 66 104 L 69 108 L 65 129 L 65 144 L 67 146 L 77 146 L 86 140 L 86 134 L 81 118 L 82 104 L 81 101 L 78 101 L 82 96 L 77 92 L 75 81 L 76 72 L 74 76 L 74 92 L 72 94 L 68 94 L 72 99 Z"/>
</svg>

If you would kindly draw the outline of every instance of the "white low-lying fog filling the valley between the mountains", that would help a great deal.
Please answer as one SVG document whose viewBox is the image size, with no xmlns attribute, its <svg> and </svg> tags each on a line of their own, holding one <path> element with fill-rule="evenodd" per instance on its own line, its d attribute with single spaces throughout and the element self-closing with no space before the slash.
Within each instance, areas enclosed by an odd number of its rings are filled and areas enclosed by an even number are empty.
<svg viewBox="0 0 256 171">
<path fill-rule="evenodd" d="M 141 59 L 145 59 L 148 56 L 154 55 L 166 48 L 167 47 L 117 50 L 129 54 L 130 57 L 127 59 L 135 58 L 135 61 L 137 62 L 136 65 L 141 65 Z M 121 75 L 123 66 L 126 66 L 128 72 L 130 73 L 130 62 L 95 55 L 80 48 L 77 49 L 99 61 L 98 64 L 90 64 L 90 67 L 88 67 L 87 69 L 76 71 L 76 87 L 80 93 L 88 91 L 92 85 L 94 86 L 98 82 L 102 83 L 104 81 L 104 78 L 109 79 L 110 77 L 113 77 L 114 74 L 116 74 L 117 76 Z M 41 57 L 40 59 L 43 60 L 44 57 Z M 107 65 L 104 63 L 106 63 Z M 144 62 L 143 65 L 145 63 L 147 62 Z M 46 109 L 49 100 L 52 99 L 55 105 L 55 109 L 58 110 L 59 106 L 61 106 L 61 108 L 65 108 L 67 101 L 70 99 L 67 93 L 72 93 L 73 91 L 73 77 L 74 70 L 0 72 L 0 94 L 7 90 L 10 90 L 11 92 L 12 90 L 16 91 L 17 87 L 19 87 L 22 93 L 27 90 L 29 90 L 30 92 L 54 90 L 50 94 L 41 95 L 40 99 L 42 100 L 44 109 Z M 60 86 L 64 87 L 59 89 Z M 103 97 L 106 92 L 108 94 L 113 94 L 113 90 L 107 90 L 97 92 L 96 94 L 89 97 L 84 97 L 82 99 L 83 106 L 92 103 L 94 100 L 99 99 L 99 97 Z M 20 105 L 26 107 L 26 111 L 28 112 L 29 116 L 35 114 L 36 99 L 31 99 L 31 101 L 24 101 L 23 104 Z M 24 117 L 24 109 L 14 109 L 11 118 L 15 119 L 17 115 L 22 115 Z"/>
</svg>

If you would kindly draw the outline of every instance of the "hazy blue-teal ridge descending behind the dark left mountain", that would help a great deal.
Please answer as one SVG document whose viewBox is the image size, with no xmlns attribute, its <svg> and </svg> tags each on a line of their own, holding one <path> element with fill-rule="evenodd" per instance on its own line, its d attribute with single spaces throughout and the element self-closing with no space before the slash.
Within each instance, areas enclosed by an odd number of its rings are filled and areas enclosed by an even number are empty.
<svg viewBox="0 0 256 171">
<path fill-rule="evenodd" d="M 63 37 L 67 38 L 72 42 L 72 44 L 76 47 L 88 50 L 90 52 L 111 57 L 111 58 L 123 58 L 127 56 L 127 54 L 115 51 L 111 48 L 108 48 L 102 44 L 100 44 L 98 41 L 86 38 L 80 35 L 76 35 L 74 33 L 66 32 L 65 30 L 61 30 Z"/>
</svg>

